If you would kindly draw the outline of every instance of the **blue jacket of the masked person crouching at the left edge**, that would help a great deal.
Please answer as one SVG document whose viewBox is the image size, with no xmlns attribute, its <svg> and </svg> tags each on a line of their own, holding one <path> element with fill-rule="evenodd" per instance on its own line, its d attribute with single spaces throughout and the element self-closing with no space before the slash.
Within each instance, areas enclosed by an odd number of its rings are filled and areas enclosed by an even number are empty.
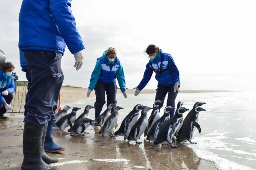
<svg viewBox="0 0 256 170">
<path fill-rule="evenodd" d="M 15 85 L 13 80 L 13 74 L 10 77 L 6 77 L 3 70 L 0 71 L 0 104 L 6 102 L 4 97 L 2 96 L 2 91 L 8 90 L 9 93 L 13 93 L 15 91 Z"/>
</svg>

